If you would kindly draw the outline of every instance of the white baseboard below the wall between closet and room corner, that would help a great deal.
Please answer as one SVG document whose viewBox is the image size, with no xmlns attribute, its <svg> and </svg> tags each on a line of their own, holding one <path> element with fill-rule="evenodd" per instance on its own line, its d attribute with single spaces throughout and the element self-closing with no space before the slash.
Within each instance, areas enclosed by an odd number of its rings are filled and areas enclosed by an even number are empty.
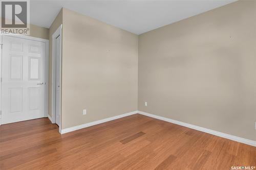
<svg viewBox="0 0 256 170">
<path fill-rule="evenodd" d="M 121 115 L 117 115 L 117 116 L 113 116 L 113 117 L 109 117 L 109 118 L 104 118 L 104 119 L 101 119 L 101 120 L 96 120 L 94 122 L 90 122 L 90 123 L 87 123 L 87 124 L 82 124 L 82 125 L 74 126 L 74 127 L 71 127 L 71 128 L 62 129 L 61 134 L 72 132 L 72 131 L 83 129 L 83 128 L 87 128 L 87 127 L 98 125 L 98 124 L 102 124 L 102 123 L 105 123 L 105 122 L 109 122 L 111 120 L 115 120 L 115 119 L 122 118 L 122 117 L 125 117 L 125 116 L 130 116 L 130 115 L 133 115 L 133 114 L 136 114 L 136 113 L 138 113 L 138 111 L 124 113 L 124 114 L 121 114 Z"/>
</svg>

